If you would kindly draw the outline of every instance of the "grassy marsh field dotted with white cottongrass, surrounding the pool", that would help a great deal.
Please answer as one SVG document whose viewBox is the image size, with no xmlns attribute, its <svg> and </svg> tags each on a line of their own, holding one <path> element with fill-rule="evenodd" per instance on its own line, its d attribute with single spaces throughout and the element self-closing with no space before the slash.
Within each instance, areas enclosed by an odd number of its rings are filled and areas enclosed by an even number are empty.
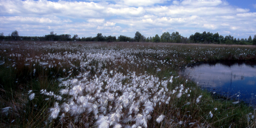
<svg viewBox="0 0 256 128">
<path fill-rule="evenodd" d="M 255 107 L 182 69 L 256 62 L 256 46 L 1 42 L 2 127 L 256 127 Z"/>
</svg>

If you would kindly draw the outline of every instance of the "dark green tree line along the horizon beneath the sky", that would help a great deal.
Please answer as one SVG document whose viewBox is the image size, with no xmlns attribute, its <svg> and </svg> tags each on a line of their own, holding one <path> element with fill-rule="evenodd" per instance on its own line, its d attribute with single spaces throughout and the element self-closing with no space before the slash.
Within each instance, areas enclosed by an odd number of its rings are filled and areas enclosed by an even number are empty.
<svg viewBox="0 0 256 128">
<path fill-rule="evenodd" d="M 234 38 L 233 36 L 219 35 L 219 33 L 210 33 L 204 31 L 203 33 L 195 33 L 190 35 L 189 38 L 183 37 L 178 31 L 170 34 L 169 32 L 164 32 L 161 36 L 156 34 L 153 37 L 145 37 L 139 31 L 135 33 L 134 37 L 127 37 L 120 35 L 116 36 L 103 36 L 98 33 L 95 37 L 78 37 L 74 35 L 71 37 L 69 34 L 54 34 L 51 31 L 49 35 L 45 36 L 19 36 L 17 30 L 13 31 L 12 34 L 4 36 L 4 33 L 0 34 L 0 41 L 82 41 L 82 42 L 163 42 L 163 43 L 204 43 L 204 44 L 254 44 L 256 45 L 256 35 L 252 38 Z"/>
</svg>

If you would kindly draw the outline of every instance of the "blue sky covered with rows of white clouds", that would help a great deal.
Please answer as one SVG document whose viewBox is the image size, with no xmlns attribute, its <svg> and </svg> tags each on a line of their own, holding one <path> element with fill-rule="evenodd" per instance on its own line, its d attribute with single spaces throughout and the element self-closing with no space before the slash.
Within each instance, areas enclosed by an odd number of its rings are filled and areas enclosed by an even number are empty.
<svg viewBox="0 0 256 128">
<path fill-rule="evenodd" d="M 189 37 L 210 31 L 222 36 L 256 35 L 255 0 L 1 0 L 0 33 L 20 36 L 149 37 L 178 31 Z"/>
</svg>

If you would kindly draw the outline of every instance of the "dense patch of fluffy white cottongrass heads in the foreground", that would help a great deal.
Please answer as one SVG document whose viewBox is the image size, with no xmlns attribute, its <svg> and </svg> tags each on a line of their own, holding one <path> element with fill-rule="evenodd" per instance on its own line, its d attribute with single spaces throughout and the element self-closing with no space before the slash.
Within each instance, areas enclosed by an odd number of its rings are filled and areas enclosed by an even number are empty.
<svg viewBox="0 0 256 128">
<path fill-rule="evenodd" d="M 79 79 L 68 79 L 59 85 L 62 88 L 58 92 L 61 94 L 59 97 L 67 95 L 70 98 L 60 98 L 60 106 L 59 102 L 54 103 L 49 111 L 50 121 L 57 117 L 61 118 L 60 121 L 67 121 L 67 116 L 73 116 L 76 118 L 74 123 L 79 123 L 81 115 L 92 114 L 97 127 L 148 127 L 151 113 L 157 105 L 169 104 L 173 97 L 171 95 L 177 91 L 179 97 L 188 93 L 188 89 L 184 90 L 182 84 L 170 92 L 167 89 L 170 81 L 160 81 L 147 74 L 137 76 L 134 72 L 125 76 L 110 71 L 110 76 L 107 69 L 101 69 L 101 74 L 90 79 L 89 72 Z M 130 82 L 123 83 L 125 79 Z M 41 90 L 41 94 L 57 97 L 54 92 L 46 90 Z M 164 117 L 162 114 L 156 122 L 162 122 Z"/>
</svg>

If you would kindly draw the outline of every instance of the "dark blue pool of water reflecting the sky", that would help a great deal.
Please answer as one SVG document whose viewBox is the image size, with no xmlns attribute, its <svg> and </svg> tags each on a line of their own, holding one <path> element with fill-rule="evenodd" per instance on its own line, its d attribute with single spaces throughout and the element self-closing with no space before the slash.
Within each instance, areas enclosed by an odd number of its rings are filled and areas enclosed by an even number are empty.
<svg viewBox="0 0 256 128">
<path fill-rule="evenodd" d="M 207 63 L 188 67 L 183 74 L 213 94 L 256 105 L 256 65 Z"/>
</svg>

